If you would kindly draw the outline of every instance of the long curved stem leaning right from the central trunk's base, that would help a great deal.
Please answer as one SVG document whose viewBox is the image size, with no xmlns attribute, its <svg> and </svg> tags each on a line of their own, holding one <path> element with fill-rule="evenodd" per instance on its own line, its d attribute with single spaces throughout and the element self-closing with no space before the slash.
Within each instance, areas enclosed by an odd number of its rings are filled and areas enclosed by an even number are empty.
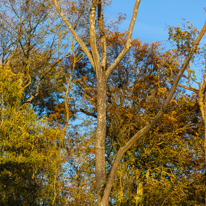
<svg viewBox="0 0 206 206">
<path fill-rule="evenodd" d="M 174 80 L 174 83 L 172 85 L 172 88 L 165 100 L 165 102 L 163 103 L 163 106 L 162 108 L 160 109 L 160 111 L 156 114 L 156 116 L 145 126 L 143 127 L 139 132 L 137 132 L 123 147 L 121 147 L 117 153 L 117 156 L 115 158 L 115 161 L 114 161 L 114 164 L 112 165 L 112 168 L 111 168 L 111 171 L 110 171 L 110 174 L 108 176 L 108 179 L 107 179 L 107 183 L 106 183 L 106 188 L 104 190 L 104 195 L 102 197 L 102 202 L 103 204 L 105 203 L 106 205 L 106 202 L 109 201 L 109 194 L 110 194 L 110 191 L 111 191 L 111 188 L 112 188 L 112 184 L 114 182 L 114 177 L 115 177 L 115 174 L 116 174 L 116 171 L 117 171 L 117 168 L 119 166 L 119 162 L 123 156 L 123 154 L 138 140 L 140 139 L 140 137 L 142 135 L 144 135 L 147 131 L 149 131 L 150 128 L 152 128 L 157 122 L 158 120 L 160 119 L 160 117 L 163 115 L 163 113 L 165 112 L 169 102 L 171 101 L 172 99 L 172 96 L 173 94 L 175 93 L 175 90 L 176 90 L 176 87 L 178 85 L 178 82 L 180 80 L 180 78 L 182 77 L 185 69 L 187 68 L 193 54 L 196 52 L 197 50 L 197 46 L 200 42 L 200 40 L 202 39 L 203 35 L 205 34 L 205 31 L 206 31 L 206 21 L 205 21 L 205 24 L 201 30 L 201 32 L 199 33 L 196 41 L 194 42 L 193 44 L 193 47 L 191 48 L 188 56 L 186 56 L 185 60 L 184 60 L 184 63 L 182 65 L 182 67 L 180 68 L 175 80 Z"/>
</svg>

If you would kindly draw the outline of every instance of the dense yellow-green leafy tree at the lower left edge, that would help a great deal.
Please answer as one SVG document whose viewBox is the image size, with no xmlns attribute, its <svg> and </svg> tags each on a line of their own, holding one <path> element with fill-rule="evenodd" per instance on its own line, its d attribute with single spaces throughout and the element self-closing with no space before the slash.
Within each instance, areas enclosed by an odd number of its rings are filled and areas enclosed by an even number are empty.
<svg viewBox="0 0 206 206">
<path fill-rule="evenodd" d="M 56 205 L 66 200 L 63 134 L 28 104 L 21 105 L 23 75 L 7 66 L 0 70 L 2 205 Z"/>
</svg>

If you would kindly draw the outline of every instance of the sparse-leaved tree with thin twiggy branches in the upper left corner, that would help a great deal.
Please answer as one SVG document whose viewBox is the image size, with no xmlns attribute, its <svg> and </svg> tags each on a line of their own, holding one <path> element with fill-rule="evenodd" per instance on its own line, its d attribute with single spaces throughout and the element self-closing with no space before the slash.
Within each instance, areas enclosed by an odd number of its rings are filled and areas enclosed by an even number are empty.
<svg viewBox="0 0 206 206">
<path fill-rule="evenodd" d="M 61 19 L 48 1 L 3 0 L 0 7 L 2 66 L 23 74 L 22 103 L 31 103 L 38 115 L 50 114 L 62 99 L 65 77 L 59 62 L 70 46 Z"/>
</svg>

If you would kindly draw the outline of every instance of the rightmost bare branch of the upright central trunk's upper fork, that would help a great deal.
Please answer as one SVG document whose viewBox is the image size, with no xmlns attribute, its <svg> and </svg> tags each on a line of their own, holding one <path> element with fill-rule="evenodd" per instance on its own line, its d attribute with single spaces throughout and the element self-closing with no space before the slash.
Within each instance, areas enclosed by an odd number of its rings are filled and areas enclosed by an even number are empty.
<svg viewBox="0 0 206 206">
<path fill-rule="evenodd" d="M 115 61 L 107 69 L 107 71 L 106 71 L 106 78 L 107 79 L 109 78 L 110 74 L 115 69 L 115 67 L 122 60 L 122 58 L 125 56 L 125 54 L 128 52 L 129 48 L 131 47 L 132 32 L 133 32 L 134 24 L 135 24 L 135 21 L 136 21 L 136 18 L 137 18 L 137 12 L 138 12 L 140 1 L 141 0 L 136 0 L 134 10 L 133 10 L 133 14 L 132 14 L 132 19 L 131 19 L 131 22 L 130 22 L 130 25 L 129 25 L 126 44 L 125 44 L 124 48 L 122 49 L 122 51 L 120 52 L 119 56 L 115 59 Z"/>
</svg>

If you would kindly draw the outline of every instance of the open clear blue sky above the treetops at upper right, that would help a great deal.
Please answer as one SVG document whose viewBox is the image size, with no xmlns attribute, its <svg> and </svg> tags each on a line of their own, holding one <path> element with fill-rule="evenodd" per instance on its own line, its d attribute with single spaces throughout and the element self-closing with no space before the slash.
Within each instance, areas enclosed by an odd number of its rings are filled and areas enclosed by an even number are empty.
<svg viewBox="0 0 206 206">
<path fill-rule="evenodd" d="M 112 0 L 106 9 L 110 18 L 125 13 L 127 19 L 121 26 L 124 31 L 128 29 L 133 12 L 135 0 Z M 205 0 L 142 0 L 134 27 L 133 38 L 143 42 L 154 42 L 168 39 L 168 26 L 182 26 L 182 18 L 193 22 L 201 30 L 206 19 L 204 7 Z M 203 40 L 206 42 L 206 38 Z"/>
</svg>

